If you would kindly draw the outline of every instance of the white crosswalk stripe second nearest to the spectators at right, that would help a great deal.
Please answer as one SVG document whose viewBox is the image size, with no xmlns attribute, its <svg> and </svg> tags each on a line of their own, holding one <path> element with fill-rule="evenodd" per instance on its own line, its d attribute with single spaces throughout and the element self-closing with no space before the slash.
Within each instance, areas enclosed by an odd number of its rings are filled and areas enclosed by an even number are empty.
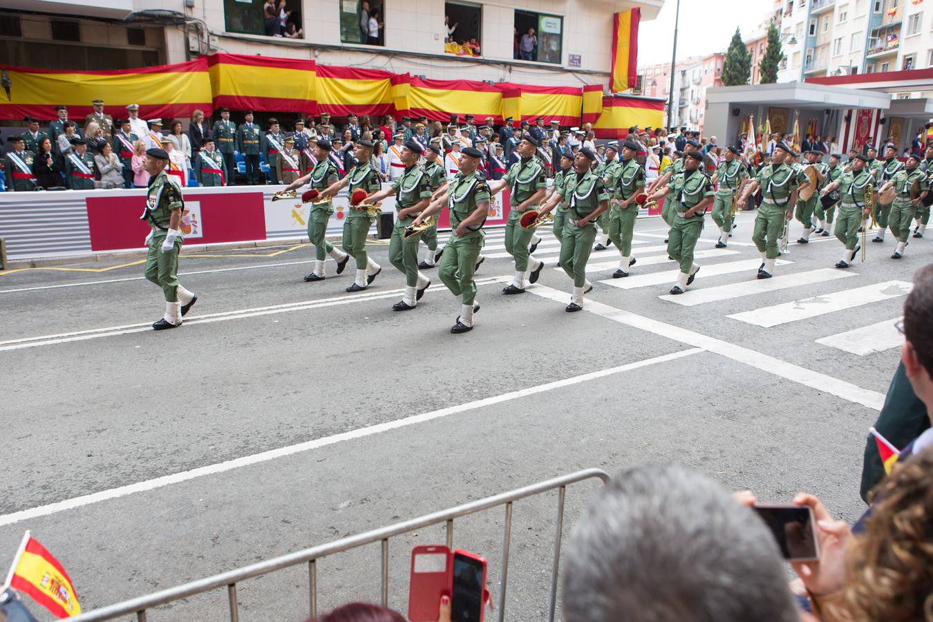
<svg viewBox="0 0 933 622">
<path fill-rule="evenodd" d="M 910 294 L 913 284 L 905 281 L 884 281 L 854 289 L 843 289 L 826 296 L 815 296 L 794 300 L 783 305 L 762 307 L 752 311 L 732 313 L 729 317 L 740 322 L 771 328 L 772 326 L 806 320 L 818 315 L 844 311 L 853 307 L 880 302 Z"/>
</svg>

